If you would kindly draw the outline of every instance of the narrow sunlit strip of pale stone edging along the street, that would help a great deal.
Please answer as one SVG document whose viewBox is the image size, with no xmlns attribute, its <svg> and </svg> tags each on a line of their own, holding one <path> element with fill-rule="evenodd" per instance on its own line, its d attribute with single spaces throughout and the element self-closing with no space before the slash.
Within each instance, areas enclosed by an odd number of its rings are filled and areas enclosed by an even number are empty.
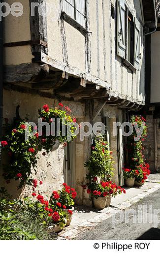
<svg viewBox="0 0 160 256">
<path fill-rule="evenodd" d="M 79 218 L 79 223 L 75 224 L 75 226 L 68 226 L 64 228 L 62 232 L 59 233 L 58 240 L 70 240 L 73 239 L 74 237 L 78 236 L 79 234 L 85 232 L 88 229 L 91 229 L 95 227 L 97 224 L 101 223 L 102 221 L 107 220 L 114 214 L 128 210 L 130 206 L 133 204 L 137 203 L 147 195 L 156 192 L 157 190 L 160 189 L 160 184 L 157 184 L 153 188 L 146 189 L 145 191 L 139 193 L 138 195 L 131 197 L 125 202 L 122 202 L 121 204 L 118 204 L 113 207 L 107 207 L 102 212 L 97 213 L 96 216 L 89 220 L 85 220 L 82 218 Z"/>
</svg>

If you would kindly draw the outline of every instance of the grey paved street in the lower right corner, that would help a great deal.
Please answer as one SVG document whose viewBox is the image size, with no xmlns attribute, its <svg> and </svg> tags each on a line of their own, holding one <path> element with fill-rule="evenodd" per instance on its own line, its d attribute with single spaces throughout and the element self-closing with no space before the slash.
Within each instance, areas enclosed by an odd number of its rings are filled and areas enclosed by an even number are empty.
<svg viewBox="0 0 160 256">
<path fill-rule="evenodd" d="M 133 224 L 133 218 L 137 217 L 139 205 L 142 206 L 142 222 L 140 221 L 139 224 L 136 221 L 136 223 Z M 143 205 L 146 205 L 146 209 L 143 208 Z M 152 205 L 152 209 L 150 210 L 149 205 Z M 96 227 L 81 233 L 75 240 L 159 240 L 160 224 L 158 224 L 157 228 L 154 227 L 154 223 L 156 223 L 157 220 L 157 215 L 154 214 L 154 210 L 160 209 L 160 190 L 144 197 L 138 203 L 129 207 L 129 210 L 130 209 L 134 209 L 136 212 L 134 216 L 133 214 L 128 215 L 128 223 L 122 221 L 113 228 L 111 226 L 112 218 L 109 218 L 96 225 Z M 126 211 L 126 213 L 127 212 L 128 211 Z M 119 220 L 119 218 L 120 216 L 118 214 L 116 219 Z M 160 214 L 158 214 L 158 218 L 160 219 Z M 147 223 L 145 223 L 145 220 Z"/>
</svg>

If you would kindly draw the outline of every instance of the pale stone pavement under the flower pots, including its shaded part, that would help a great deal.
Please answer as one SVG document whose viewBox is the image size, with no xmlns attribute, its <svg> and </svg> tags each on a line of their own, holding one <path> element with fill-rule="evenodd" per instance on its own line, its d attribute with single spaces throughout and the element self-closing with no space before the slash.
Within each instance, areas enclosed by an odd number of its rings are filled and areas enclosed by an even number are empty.
<svg viewBox="0 0 160 256">
<path fill-rule="evenodd" d="M 73 239 L 86 230 L 95 227 L 100 222 L 110 218 L 119 211 L 128 208 L 145 196 L 160 189 L 160 183 L 146 182 L 142 187 L 126 188 L 126 194 L 112 198 L 110 207 L 96 210 L 85 206 L 76 206 L 71 225 L 59 233 L 58 240 Z"/>
</svg>

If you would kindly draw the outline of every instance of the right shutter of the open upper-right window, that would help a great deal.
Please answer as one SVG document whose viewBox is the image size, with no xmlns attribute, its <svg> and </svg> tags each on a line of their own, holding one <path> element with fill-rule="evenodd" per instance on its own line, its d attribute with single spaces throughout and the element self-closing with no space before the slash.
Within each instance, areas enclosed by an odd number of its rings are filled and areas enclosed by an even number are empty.
<svg viewBox="0 0 160 256">
<path fill-rule="evenodd" d="M 134 23 L 134 67 L 139 70 L 140 64 L 140 23 L 135 18 Z"/>
</svg>

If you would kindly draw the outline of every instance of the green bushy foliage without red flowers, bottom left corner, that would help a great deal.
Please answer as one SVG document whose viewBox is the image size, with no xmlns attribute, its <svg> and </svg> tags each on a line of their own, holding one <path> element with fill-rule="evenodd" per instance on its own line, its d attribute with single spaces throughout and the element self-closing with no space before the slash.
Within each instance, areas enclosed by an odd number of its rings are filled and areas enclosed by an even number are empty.
<svg viewBox="0 0 160 256">
<path fill-rule="evenodd" d="M 47 233 L 51 223 L 39 202 L 31 198 L 11 201 L 0 197 L 0 240 L 52 240 L 55 234 Z"/>
</svg>

